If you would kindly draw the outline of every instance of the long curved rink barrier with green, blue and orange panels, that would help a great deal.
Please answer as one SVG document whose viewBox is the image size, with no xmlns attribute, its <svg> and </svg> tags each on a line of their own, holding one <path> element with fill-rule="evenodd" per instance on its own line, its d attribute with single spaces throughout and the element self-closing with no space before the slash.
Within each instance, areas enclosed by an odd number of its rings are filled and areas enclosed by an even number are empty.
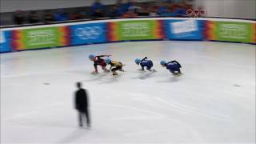
<svg viewBox="0 0 256 144">
<path fill-rule="evenodd" d="M 109 42 L 208 41 L 256 44 L 256 21 L 234 18 L 117 18 L 0 30 L 0 52 Z"/>
</svg>

